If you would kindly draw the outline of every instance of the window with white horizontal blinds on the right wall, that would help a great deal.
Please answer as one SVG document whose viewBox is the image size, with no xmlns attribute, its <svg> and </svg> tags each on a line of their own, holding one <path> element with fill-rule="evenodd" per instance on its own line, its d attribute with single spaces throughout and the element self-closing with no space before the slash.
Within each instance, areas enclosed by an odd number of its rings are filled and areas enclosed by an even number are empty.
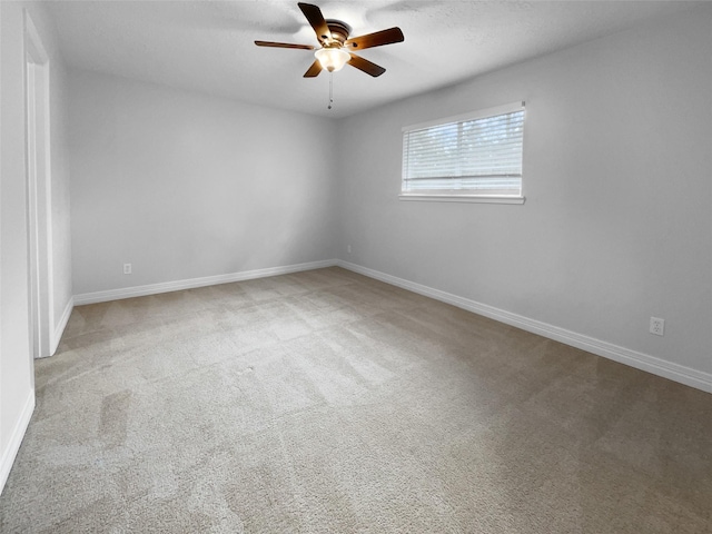
<svg viewBox="0 0 712 534">
<path fill-rule="evenodd" d="M 403 129 L 404 200 L 522 204 L 524 102 Z"/>
</svg>

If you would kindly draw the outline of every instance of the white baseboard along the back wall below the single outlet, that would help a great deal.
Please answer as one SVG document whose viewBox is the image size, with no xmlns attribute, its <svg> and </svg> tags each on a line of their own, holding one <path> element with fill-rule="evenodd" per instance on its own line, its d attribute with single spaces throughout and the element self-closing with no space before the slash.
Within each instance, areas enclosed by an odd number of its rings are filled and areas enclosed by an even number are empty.
<svg viewBox="0 0 712 534">
<path fill-rule="evenodd" d="M 107 291 L 83 293 L 75 295 L 75 306 L 83 304 L 106 303 L 121 298 L 144 297 L 146 295 L 157 295 L 159 293 L 179 291 L 181 289 L 192 289 L 195 287 L 215 286 L 218 284 L 229 284 L 231 281 L 251 280 L 254 278 L 265 278 L 268 276 L 288 275 L 301 270 L 322 269 L 334 267 L 335 259 L 322 261 L 309 261 L 307 264 L 286 265 L 280 267 L 268 267 L 266 269 L 245 270 L 228 275 L 205 276 L 201 278 L 189 278 L 186 280 L 164 281 L 149 284 L 146 286 L 126 287 L 121 289 L 109 289 Z"/>
</svg>

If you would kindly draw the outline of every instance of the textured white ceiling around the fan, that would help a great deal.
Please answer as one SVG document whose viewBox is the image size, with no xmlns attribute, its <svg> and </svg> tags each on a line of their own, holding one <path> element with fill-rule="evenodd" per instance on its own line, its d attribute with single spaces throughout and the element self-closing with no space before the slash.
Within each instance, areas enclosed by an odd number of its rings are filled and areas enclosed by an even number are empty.
<svg viewBox="0 0 712 534">
<path fill-rule="evenodd" d="M 684 1 L 319 1 L 352 37 L 398 26 L 405 41 L 359 52 L 386 68 L 349 66 L 305 79 L 308 50 L 259 48 L 256 39 L 317 44 L 295 1 L 47 2 L 70 67 L 108 72 L 325 117 L 345 117 L 542 56 L 654 17 Z"/>
</svg>

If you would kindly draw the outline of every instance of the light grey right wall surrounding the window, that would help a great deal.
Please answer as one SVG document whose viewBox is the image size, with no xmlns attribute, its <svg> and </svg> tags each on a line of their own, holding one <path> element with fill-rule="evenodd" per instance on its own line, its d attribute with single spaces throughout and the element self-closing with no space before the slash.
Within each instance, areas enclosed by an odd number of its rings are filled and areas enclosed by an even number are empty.
<svg viewBox="0 0 712 534">
<path fill-rule="evenodd" d="M 711 28 L 704 6 L 342 120 L 339 258 L 710 380 Z M 525 205 L 398 201 L 402 127 L 520 100 Z"/>
</svg>

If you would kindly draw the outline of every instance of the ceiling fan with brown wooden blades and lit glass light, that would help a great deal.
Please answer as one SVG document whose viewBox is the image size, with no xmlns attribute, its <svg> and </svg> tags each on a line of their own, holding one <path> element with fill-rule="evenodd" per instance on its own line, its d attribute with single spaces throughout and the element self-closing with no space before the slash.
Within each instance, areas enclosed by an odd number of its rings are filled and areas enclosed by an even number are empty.
<svg viewBox="0 0 712 534">
<path fill-rule="evenodd" d="M 312 67 L 304 73 L 305 78 L 315 78 L 319 76 L 319 72 L 324 69 L 329 72 L 336 72 L 347 63 L 375 78 L 383 75 L 386 69 L 360 56 L 356 56 L 352 50 L 364 50 L 366 48 L 392 44 L 394 42 L 402 42 L 405 39 L 400 28 L 389 28 L 349 39 L 348 34 L 352 28 L 346 22 L 325 19 L 322 10 L 317 6 L 304 2 L 298 2 L 297 6 L 299 6 L 299 9 L 307 18 L 309 24 L 312 24 L 312 28 L 314 28 L 316 38 L 322 44 L 322 48 L 314 52 L 316 59 L 314 63 L 312 63 Z M 310 44 L 291 44 L 288 42 L 274 41 L 255 41 L 255 44 L 258 47 L 293 48 L 298 50 L 315 49 L 315 47 Z"/>
</svg>

